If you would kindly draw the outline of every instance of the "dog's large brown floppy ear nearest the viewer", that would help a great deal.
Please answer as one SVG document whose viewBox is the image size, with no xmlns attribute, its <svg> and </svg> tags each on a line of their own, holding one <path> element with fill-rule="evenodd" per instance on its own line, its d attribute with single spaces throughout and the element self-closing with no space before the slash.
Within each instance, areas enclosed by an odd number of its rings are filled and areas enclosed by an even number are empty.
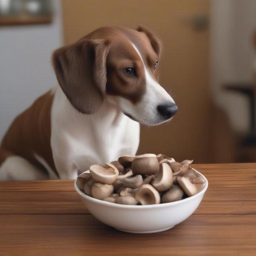
<svg viewBox="0 0 256 256">
<path fill-rule="evenodd" d="M 104 40 L 80 39 L 53 52 L 52 64 L 63 92 L 81 113 L 91 114 L 106 94 L 106 59 L 109 45 Z"/>
</svg>

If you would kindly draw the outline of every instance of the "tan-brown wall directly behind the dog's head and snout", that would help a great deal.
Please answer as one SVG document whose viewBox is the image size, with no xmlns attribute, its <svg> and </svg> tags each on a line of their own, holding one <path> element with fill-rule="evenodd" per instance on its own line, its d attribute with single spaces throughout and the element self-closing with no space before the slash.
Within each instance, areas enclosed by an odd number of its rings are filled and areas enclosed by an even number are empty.
<svg viewBox="0 0 256 256">
<path fill-rule="evenodd" d="M 197 13 L 208 15 L 207 0 L 63 0 L 66 44 L 100 26 L 136 28 L 139 24 L 148 26 L 163 42 L 160 84 L 174 96 L 179 113 L 172 122 L 142 128 L 139 153 L 212 161 L 209 33 L 196 32 L 184 21 Z"/>
</svg>

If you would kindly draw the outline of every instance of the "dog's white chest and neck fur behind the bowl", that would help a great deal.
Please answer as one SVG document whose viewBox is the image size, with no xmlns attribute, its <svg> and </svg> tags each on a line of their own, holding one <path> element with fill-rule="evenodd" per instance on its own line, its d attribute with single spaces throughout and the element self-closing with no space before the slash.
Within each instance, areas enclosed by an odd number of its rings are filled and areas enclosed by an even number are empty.
<svg viewBox="0 0 256 256">
<path fill-rule="evenodd" d="M 136 154 L 140 125 L 105 100 L 93 115 L 76 111 L 60 88 L 52 105 L 51 146 L 61 178 L 75 178 L 91 164 L 109 163 L 123 154 Z"/>
</svg>

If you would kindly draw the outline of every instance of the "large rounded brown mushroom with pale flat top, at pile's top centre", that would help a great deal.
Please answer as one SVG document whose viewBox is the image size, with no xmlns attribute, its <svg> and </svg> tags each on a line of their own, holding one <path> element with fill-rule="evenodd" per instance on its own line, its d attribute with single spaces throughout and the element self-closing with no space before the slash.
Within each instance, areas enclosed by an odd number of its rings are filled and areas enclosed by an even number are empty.
<svg viewBox="0 0 256 256">
<path fill-rule="evenodd" d="M 155 154 L 137 156 L 131 164 L 131 169 L 134 175 L 155 175 L 159 172 L 157 156 Z"/>
</svg>

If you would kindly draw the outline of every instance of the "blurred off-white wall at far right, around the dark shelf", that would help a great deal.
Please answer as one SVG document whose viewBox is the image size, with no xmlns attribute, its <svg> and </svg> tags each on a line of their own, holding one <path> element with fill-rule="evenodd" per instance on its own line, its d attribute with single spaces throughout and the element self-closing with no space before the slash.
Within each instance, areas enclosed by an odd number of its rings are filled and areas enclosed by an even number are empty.
<svg viewBox="0 0 256 256">
<path fill-rule="evenodd" d="M 211 79 L 215 102 L 223 107 L 237 131 L 248 130 L 249 113 L 245 96 L 224 92 L 227 82 L 253 81 L 256 50 L 255 0 L 211 0 Z"/>
</svg>

